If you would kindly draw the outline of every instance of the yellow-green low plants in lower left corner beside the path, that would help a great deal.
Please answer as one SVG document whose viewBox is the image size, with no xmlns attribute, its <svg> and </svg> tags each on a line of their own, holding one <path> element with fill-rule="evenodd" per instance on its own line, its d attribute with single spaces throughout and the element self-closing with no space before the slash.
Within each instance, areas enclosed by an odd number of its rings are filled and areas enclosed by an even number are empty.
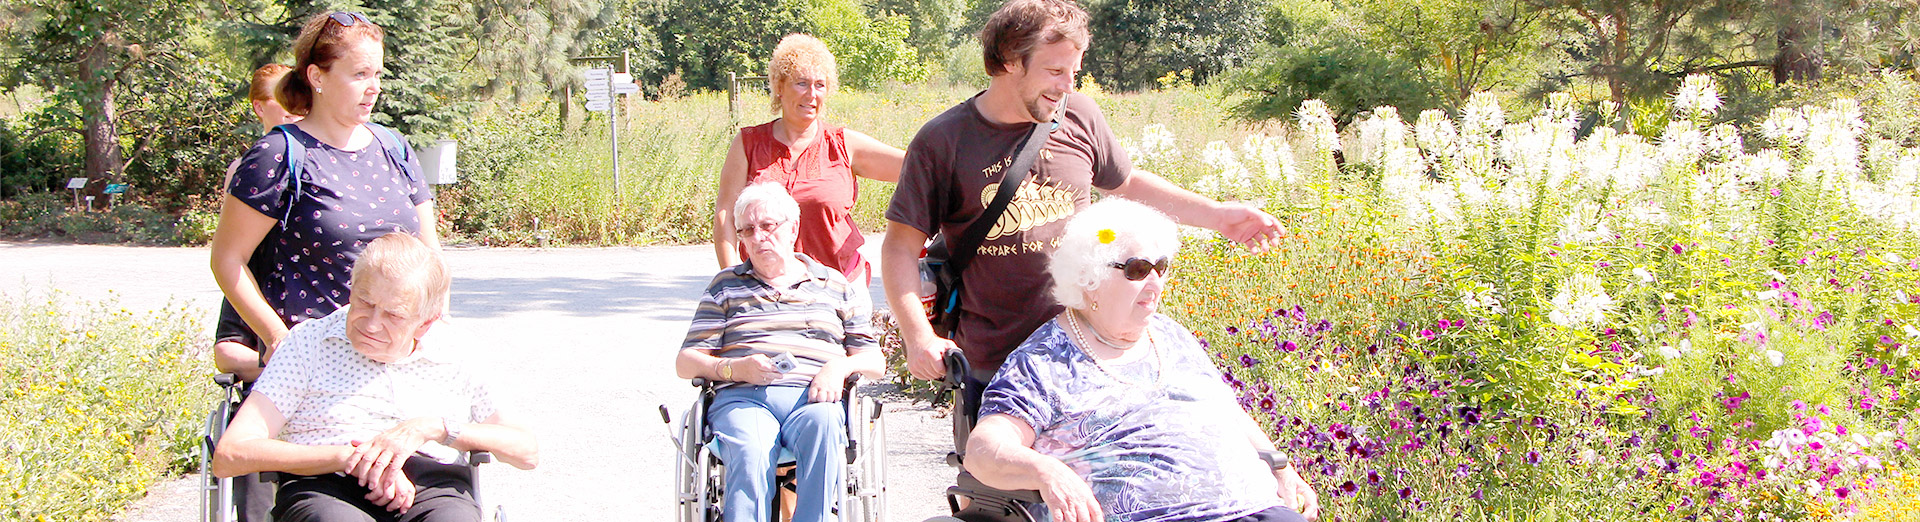
<svg viewBox="0 0 1920 522">
<path fill-rule="evenodd" d="M 0 296 L 0 518 L 108 520 L 192 466 L 215 390 L 198 317 Z"/>
</svg>

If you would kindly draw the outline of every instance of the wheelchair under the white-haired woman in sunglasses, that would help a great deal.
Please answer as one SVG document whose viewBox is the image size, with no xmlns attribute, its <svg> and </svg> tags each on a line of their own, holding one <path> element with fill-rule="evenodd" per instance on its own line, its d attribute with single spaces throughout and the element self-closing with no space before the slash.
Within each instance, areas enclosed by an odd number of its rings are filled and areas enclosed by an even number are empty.
<svg viewBox="0 0 1920 522">
<path fill-rule="evenodd" d="M 966 441 L 968 434 L 973 432 L 973 424 L 979 422 L 979 403 L 987 390 L 973 390 L 968 382 L 968 370 L 972 368 L 966 361 L 966 353 L 960 349 L 948 349 L 943 357 L 947 365 L 947 378 L 941 382 L 939 393 L 943 397 L 952 397 L 952 413 L 948 418 L 954 422 L 954 451 L 947 453 L 947 464 L 954 466 L 958 476 L 954 476 L 954 486 L 947 487 L 947 509 L 950 516 L 933 516 L 924 522 L 1044 522 L 1050 520 L 1046 512 L 1046 499 L 1041 491 L 1033 489 L 998 489 L 981 484 L 966 470 Z M 983 384 L 981 384 L 983 386 Z M 939 401 L 939 399 L 935 399 Z M 1260 451 L 1260 459 L 1267 461 L 1267 466 L 1279 470 L 1288 464 L 1284 453 L 1279 451 Z M 962 503 L 962 499 L 966 499 Z"/>
</svg>

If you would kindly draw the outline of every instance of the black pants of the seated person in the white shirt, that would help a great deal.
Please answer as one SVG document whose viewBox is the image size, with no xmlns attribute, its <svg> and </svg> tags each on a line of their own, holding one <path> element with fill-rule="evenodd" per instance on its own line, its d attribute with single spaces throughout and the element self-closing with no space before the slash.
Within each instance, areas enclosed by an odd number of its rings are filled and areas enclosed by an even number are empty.
<svg viewBox="0 0 1920 522">
<path fill-rule="evenodd" d="M 284 476 L 280 499 L 273 507 L 278 522 L 476 522 L 472 474 L 467 466 L 442 464 L 424 457 L 407 459 L 407 480 L 419 491 L 405 514 L 386 510 L 367 501 L 369 489 L 353 476 Z"/>
</svg>

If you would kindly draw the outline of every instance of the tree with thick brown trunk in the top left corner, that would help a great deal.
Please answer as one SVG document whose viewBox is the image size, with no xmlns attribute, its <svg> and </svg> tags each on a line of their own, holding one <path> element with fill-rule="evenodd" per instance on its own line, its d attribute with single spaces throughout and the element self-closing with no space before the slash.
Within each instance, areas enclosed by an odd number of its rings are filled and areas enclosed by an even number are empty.
<svg viewBox="0 0 1920 522">
<path fill-rule="evenodd" d="M 83 173 L 86 190 L 102 194 L 121 180 L 127 163 L 148 152 L 152 134 L 142 134 L 132 150 L 121 146 L 119 94 L 129 73 L 150 61 L 175 59 L 180 27 L 198 10 L 182 2 L 134 0 L 25 0 L 8 25 L 21 56 L 6 86 L 31 83 L 54 100 L 54 111 L 77 121 L 71 127 L 38 132 L 77 132 L 84 140 Z"/>
</svg>

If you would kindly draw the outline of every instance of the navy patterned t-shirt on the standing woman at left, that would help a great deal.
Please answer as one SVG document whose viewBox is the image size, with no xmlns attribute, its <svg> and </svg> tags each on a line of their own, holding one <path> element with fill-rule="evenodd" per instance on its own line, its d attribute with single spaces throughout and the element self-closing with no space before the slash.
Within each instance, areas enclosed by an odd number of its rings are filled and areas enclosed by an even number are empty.
<svg viewBox="0 0 1920 522">
<path fill-rule="evenodd" d="M 338 150 L 290 129 L 253 142 L 227 186 L 227 194 L 280 221 L 261 240 L 273 251 L 273 274 L 259 280 L 259 290 L 288 326 L 344 307 L 361 249 L 388 232 L 419 236 L 415 207 L 434 200 L 426 180 L 407 178 L 378 138 L 361 150 Z M 286 178 L 288 138 L 307 148 L 300 159 L 300 194 Z M 405 138 L 401 146 L 411 150 Z"/>
</svg>

